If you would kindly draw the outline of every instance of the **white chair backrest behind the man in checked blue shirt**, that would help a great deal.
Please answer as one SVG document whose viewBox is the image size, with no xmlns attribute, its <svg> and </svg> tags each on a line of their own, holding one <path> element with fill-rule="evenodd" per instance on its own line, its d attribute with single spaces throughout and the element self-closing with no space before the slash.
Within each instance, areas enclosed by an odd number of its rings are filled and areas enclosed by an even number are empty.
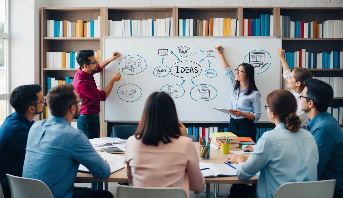
<svg viewBox="0 0 343 198">
<path fill-rule="evenodd" d="M 11 189 L 11 198 L 54 198 L 49 187 L 41 180 L 6 174 Z"/>
</svg>

